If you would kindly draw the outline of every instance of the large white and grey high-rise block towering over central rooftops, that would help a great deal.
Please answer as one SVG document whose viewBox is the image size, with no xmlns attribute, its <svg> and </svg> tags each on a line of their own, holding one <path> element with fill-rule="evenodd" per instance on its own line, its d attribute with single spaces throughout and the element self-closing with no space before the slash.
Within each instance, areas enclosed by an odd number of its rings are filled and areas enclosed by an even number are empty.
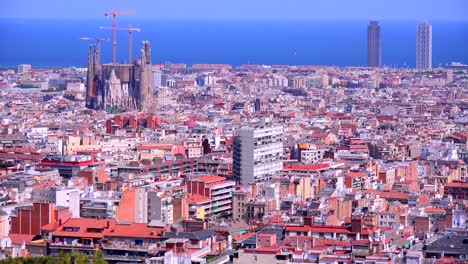
<svg viewBox="0 0 468 264">
<path fill-rule="evenodd" d="M 283 171 L 283 128 L 241 128 L 234 137 L 233 171 L 242 184 L 268 181 Z"/>
</svg>

